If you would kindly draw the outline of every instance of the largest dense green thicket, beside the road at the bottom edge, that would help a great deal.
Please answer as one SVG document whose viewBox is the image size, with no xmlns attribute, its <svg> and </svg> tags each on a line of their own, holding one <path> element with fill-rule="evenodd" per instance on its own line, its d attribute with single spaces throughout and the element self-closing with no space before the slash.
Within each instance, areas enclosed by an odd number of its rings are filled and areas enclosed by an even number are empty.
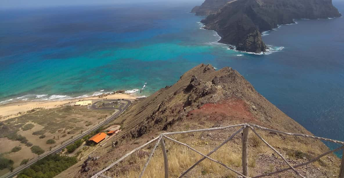
<svg viewBox="0 0 344 178">
<path fill-rule="evenodd" d="M 77 163 L 76 157 L 49 155 L 24 169 L 18 178 L 52 178 Z"/>
</svg>

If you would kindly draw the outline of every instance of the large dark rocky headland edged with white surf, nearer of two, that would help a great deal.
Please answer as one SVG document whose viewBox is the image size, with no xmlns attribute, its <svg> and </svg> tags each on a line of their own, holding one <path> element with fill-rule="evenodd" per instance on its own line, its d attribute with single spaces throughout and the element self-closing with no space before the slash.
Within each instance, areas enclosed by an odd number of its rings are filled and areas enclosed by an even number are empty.
<svg viewBox="0 0 344 178">
<path fill-rule="evenodd" d="M 266 47 L 261 32 L 293 19 L 339 17 L 331 0 L 237 0 L 227 3 L 217 13 L 201 21 L 206 29 L 218 32 L 220 42 L 237 50 L 260 53 Z"/>
</svg>

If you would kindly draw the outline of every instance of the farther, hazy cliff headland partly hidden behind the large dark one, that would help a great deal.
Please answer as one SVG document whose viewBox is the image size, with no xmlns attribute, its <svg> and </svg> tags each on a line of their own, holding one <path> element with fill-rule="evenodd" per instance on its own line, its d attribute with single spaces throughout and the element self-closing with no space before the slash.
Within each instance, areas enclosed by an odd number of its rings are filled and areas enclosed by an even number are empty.
<svg viewBox="0 0 344 178">
<path fill-rule="evenodd" d="M 202 5 L 194 7 L 191 12 L 201 16 L 214 14 L 230 1 L 233 0 L 205 0 Z"/>
</svg>

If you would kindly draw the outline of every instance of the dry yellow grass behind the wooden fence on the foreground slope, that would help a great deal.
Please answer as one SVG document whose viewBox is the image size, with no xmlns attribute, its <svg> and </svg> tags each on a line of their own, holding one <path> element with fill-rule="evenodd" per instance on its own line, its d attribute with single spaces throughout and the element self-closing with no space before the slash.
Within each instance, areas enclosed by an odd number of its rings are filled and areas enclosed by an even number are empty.
<svg viewBox="0 0 344 178">
<path fill-rule="evenodd" d="M 218 134 L 222 132 L 217 132 Z M 316 147 L 312 148 L 309 145 L 305 145 L 302 141 L 304 138 L 297 138 L 298 141 L 292 139 L 283 140 L 283 137 L 273 133 L 267 133 L 264 131 L 258 131 L 258 133 L 263 137 L 272 147 L 275 147 L 279 152 L 291 159 L 299 159 L 299 154 L 302 152 L 305 153 L 318 153 Z M 214 133 L 213 133 L 214 134 Z M 201 135 L 200 132 L 193 135 L 180 135 L 176 136 L 176 140 L 179 140 L 183 143 L 189 144 L 194 149 L 202 152 L 203 154 L 209 153 L 213 150 L 218 144 L 220 144 L 226 137 L 218 135 L 216 140 L 214 139 L 202 139 L 198 140 L 204 135 Z M 218 149 L 210 157 L 226 164 L 227 166 L 241 172 L 242 171 L 242 161 L 241 161 L 241 140 L 240 135 L 236 136 L 233 141 L 228 142 L 223 147 Z M 169 140 L 166 140 L 166 149 L 168 150 L 168 159 L 169 159 L 169 176 L 171 178 L 176 178 L 180 176 L 185 170 L 191 167 L 194 163 L 200 160 L 203 156 L 186 148 L 182 145 L 176 144 Z M 286 149 L 286 150 L 285 150 Z M 290 150 L 290 151 L 289 151 Z M 146 150 L 150 152 L 150 150 Z M 297 155 L 295 155 L 295 151 Z M 248 166 L 249 166 L 249 176 L 253 177 L 259 175 L 263 172 L 271 172 L 278 169 L 286 168 L 287 165 L 276 165 L 276 162 L 267 162 L 263 157 L 269 158 L 272 153 L 274 153 L 270 148 L 267 147 L 254 133 L 249 133 L 249 156 L 248 156 Z M 276 153 L 275 153 L 276 154 Z M 277 162 L 281 162 L 281 158 L 276 156 Z M 273 158 L 272 158 L 273 159 Z M 108 173 L 108 176 L 116 178 L 130 178 L 138 177 L 141 170 L 143 169 L 144 164 L 147 161 L 147 156 L 139 158 L 137 155 L 129 157 L 124 163 L 121 164 L 121 170 L 114 170 Z M 264 161 L 264 162 L 262 162 Z M 326 161 L 326 160 L 324 160 Z M 324 162 L 323 161 L 323 162 Z M 136 166 L 132 166 L 132 165 Z M 128 166 L 131 165 L 131 166 Z M 162 152 L 160 147 L 154 153 L 143 178 L 163 178 L 164 177 L 164 162 Z M 312 166 L 323 167 L 320 162 L 313 163 Z M 123 168 L 125 167 L 125 168 Z M 332 171 L 331 171 L 332 172 Z M 115 175 L 114 175 L 115 173 Z M 217 164 L 211 160 L 205 159 L 194 169 L 192 169 L 186 177 L 202 177 L 202 178 L 236 178 L 238 175 L 234 172 L 224 168 L 222 165 Z M 293 177 L 294 173 L 287 171 L 283 173 L 282 177 L 289 176 Z"/>
</svg>

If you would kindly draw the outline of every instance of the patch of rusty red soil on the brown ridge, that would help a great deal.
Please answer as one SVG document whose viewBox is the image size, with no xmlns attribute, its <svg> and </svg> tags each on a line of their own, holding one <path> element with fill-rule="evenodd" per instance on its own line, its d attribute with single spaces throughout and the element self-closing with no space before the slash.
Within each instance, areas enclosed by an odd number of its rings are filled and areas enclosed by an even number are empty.
<svg viewBox="0 0 344 178">
<path fill-rule="evenodd" d="M 247 104 L 241 99 L 231 99 L 216 104 L 207 103 L 200 109 L 190 111 L 188 115 L 204 115 L 211 120 L 230 119 L 245 122 L 256 120 Z"/>
</svg>

